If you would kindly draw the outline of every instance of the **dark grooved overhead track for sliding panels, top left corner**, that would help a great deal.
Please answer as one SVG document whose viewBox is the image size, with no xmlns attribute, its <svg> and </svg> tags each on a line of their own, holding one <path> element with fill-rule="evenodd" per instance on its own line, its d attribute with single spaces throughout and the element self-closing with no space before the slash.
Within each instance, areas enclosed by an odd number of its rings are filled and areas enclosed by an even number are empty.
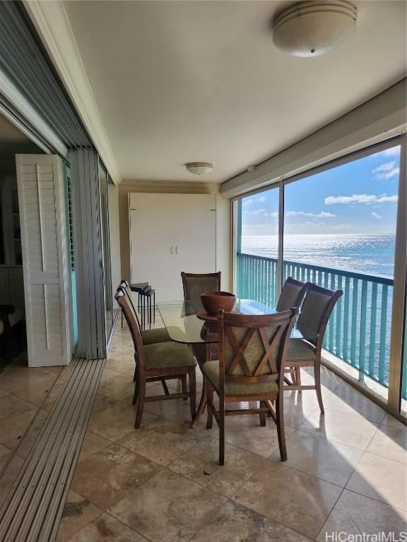
<svg viewBox="0 0 407 542">
<path fill-rule="evenodd" d="M 46 132 L 25 115 L 28 108 L 66 149 L 93 146 L 23 4 L 17 1 L 0 2 L 0 81 L 4 102 L 8 102 L 1 104 L 3 109 L 12 116 L 23 116 L 30 131 L 31 121 L 42 137 Z M 52 141 L 51 147 L 55 149 Z M 61 154 L 61 149 L 57 151 Z"/>
</svg>

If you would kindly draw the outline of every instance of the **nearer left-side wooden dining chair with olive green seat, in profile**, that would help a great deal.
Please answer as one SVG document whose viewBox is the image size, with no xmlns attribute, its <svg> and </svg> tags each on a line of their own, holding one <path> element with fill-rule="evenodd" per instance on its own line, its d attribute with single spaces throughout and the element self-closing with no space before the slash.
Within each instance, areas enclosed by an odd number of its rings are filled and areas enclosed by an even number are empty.
<svg viewBox="0 0 407 542">
<path fill-rule="evenodd" d="M 140 427 L 143 416 L 144 404 L 151 401 L 163 401 L 167 399 L 188 399 L 191 408 L 191 418 L 196 411 L 196 385 L 195 367 L 196 361 L 191 349 L 186 344 L 177 342 L 160 342 L 155 344 L 143 344 L 140 330 L 138 329 L 136 313 L 134 312 L 129 296 L 124 289 L 117 289 L 114 296 L 119 307 L 124 312 L 124 318 L 129 325 L 131 338 L 134 343 L 134 361 L 136 363 L 136 385 L 134 386 L 133 404 L 137 404 L 136 423 L 134 427 Z M 189 377 L 189 392 L 172 393 L 165 390 L 165 395 L 152 395 L 146 397 L 146 383 L 162 380 L 163 378 Z"/>
</svg>

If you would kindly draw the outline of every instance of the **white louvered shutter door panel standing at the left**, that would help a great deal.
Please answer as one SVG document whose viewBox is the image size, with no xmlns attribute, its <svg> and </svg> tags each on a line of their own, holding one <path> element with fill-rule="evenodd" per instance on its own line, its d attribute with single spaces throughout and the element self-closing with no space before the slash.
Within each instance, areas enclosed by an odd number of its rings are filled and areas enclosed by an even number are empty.
<svg viewBox="0 0 407 542">
<path fill-rule="evenodd" d="M 61 159 L 16 155 L 28 365 L 68 365 L 69 282 Z"/>
</svg>

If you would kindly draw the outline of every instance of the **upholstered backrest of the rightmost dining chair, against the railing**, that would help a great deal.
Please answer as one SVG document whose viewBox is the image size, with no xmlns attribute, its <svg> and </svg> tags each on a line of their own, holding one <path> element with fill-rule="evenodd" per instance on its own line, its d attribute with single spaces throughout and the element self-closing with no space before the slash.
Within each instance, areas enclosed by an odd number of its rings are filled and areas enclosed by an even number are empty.
<svg viewBox="0 0 407 542">
<path fill-rule="evenodd" d="M 317 284 L 311 284 L 305 295 L 297 327 L 300 330 L 303 327 L 308 335 L 312 332 L 318 335 L 317 339 L 312 339 L 309 342 L 314 343 L 319 351 L 322 348 L 326 324 L 341 295 L 343 295 L 342 290 L 327 290 Z"/>
</svg>

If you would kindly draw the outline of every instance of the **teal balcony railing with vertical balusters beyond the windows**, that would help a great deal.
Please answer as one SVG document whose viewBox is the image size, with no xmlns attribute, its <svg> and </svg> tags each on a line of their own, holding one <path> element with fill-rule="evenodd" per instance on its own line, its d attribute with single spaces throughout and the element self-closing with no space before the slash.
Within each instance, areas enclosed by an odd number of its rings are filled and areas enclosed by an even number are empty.
<svg viewBox="0 0 407 542">
<path fill-rule="evenodd" d="M 276 307 L 276 258 L 242 253 L 237 258 L 240 260 L 237 264 L 241 275 L 237 281 L 240 295 Z M 284 280 L 287 277 L 309 279 L 325 288 L 343 289 L 343 300 L 338 301 L 329 320 L 324 348 L 357 368 L 360 380 L 370 375 L 388 385 L 392 279 L 288 260 L 283 262 L 282 272 Z M 406 389 L 403 394 L 407 394 Z"/>
</svg>

